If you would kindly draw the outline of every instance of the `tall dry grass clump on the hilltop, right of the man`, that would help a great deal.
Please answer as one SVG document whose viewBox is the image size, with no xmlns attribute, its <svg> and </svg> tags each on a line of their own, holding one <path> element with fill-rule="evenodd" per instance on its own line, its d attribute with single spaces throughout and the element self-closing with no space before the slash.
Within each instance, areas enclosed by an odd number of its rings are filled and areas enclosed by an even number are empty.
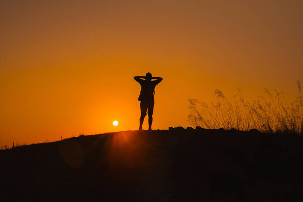
<svg viewBox="0 0 303 202">
<path fill-rule="evenodd" d="M 189 98 L 188 120 L 193 126 L 207 129 L 250 130 L 256 128 L 262 132 L 286 132 L 303 134 L 303 99 L 300 81 L 296 81 L 298 97 L 290 104 L 282 92 L 272 94 L 264 89 L 266 97 L 246 102 L 241 89 L 230 102 L 221 90 L 216 89 L 213 102 L 207 105 L 197 99 Z"/>
</svg>

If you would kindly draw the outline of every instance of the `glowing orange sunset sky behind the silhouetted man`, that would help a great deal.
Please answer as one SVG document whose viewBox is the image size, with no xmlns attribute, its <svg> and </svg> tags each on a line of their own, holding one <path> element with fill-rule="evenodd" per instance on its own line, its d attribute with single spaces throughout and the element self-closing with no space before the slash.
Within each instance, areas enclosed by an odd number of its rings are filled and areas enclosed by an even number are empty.
<svg viewBox="0 0 303 202">
<path fill-rule="evenodd" d="M 154 129 L 189 126 L 186 99 L 209 102 L 216 88 L 294 98 L 302 10 L 300 0 L 1 1 L 0 146 L 136 130 L 133 76 L 146 72 L 164 78 Z"/>
</svg>

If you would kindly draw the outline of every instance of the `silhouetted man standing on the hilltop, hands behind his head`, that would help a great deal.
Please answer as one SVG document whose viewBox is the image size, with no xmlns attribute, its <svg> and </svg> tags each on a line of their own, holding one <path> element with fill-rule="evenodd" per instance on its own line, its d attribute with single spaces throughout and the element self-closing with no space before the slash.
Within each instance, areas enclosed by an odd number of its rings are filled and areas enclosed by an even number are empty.
<svg viewBox="0 0 303 202">
<path fill-rule="evenodd" d="M 141 85 L 141 92 L 138 100 L 141 101 L 140 109 L 141 109 L 141 117 L 140 117 L 140 126 L 139 130 L 142 130 L 142 124 L 144 121 L 144 117 L 146 116 L 146 110 L 148 114 L 148 130 L 151 130 L 151 124 L 153 123 L 153 113 L 154 113 L 154 93 L 155 87 L 158 83 L 160 83 L 163 78 L 161 77 L 153 77 L 148 72 L 146 76 L 135 76 L 134 79 L 138 81 Z M 152 79 L 156 79 L 152 81 Z"/>
</svg>

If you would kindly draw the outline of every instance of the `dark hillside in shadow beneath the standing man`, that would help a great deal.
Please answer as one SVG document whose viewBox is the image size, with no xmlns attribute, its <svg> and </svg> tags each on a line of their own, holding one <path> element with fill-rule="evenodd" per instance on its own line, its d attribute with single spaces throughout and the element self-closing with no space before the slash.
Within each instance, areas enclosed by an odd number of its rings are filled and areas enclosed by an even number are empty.
<svg viewBox="0 0 303 202">
<path fill-rule="evenodd" d="M 124 131 L 0 151 L 1 201 L 302 201 L 303 138 Z"/>
</svg>

